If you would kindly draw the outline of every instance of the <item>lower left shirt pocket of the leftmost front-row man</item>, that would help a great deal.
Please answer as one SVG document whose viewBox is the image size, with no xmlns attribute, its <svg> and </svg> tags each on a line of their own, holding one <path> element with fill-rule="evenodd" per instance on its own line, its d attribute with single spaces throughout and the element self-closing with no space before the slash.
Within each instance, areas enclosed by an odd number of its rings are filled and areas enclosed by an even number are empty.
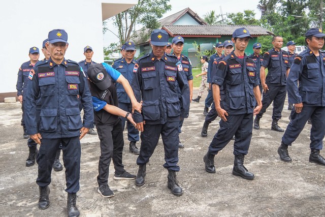
<svg viewBox="0 0 325 217">
<path fill-rule="evenodd" d="M 40 113 L 40 129 L 43 132 L 55 132 L 57 109 L 42 109 Z"/>
</svg>

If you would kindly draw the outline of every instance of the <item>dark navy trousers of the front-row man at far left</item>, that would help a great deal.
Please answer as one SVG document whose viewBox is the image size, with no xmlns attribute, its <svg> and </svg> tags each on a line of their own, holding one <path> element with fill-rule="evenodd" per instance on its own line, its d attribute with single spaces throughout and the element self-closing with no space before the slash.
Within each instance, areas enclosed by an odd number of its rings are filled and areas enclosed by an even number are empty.
<svg viewBox="0 0 325 217">
<path fill-rule="evenodd" d="M 79 191 L 81 156 L 79 136 L 58 139 L 42 138 L 40 151 L 36 158 L 39 167 L 36 183 L 40 187 L 46 187 L 51 183 L 52 166 L 60 144 L 62 144 L 63 163 L 66 168 L 66 192 L 74 194 Z"/>
</svg>

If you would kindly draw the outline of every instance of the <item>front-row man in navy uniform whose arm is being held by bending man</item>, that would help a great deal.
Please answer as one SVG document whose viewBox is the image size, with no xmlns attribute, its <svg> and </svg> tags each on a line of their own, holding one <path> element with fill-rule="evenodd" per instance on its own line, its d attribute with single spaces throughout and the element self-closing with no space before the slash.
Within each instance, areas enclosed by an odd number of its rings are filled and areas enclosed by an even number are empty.
<svg viewBox="0 0 325 217">
<path fill-rule="evenodd" d="M 176 172 L 178 163 L 178 126 L 181 113 L 188 116 L 189 88 L 181 61 L 165 53 L 168 34 L 155 29 L 151 33 L 152 52 L 141 57 L 134 67 L 132 88 L 137 101 L 142 100 L 142 113 L 135 111 L 134 120 L 141 131 L 141 148 L 137 159 L 139 171 L 136 185 L 145 183 L 146 165 L 158 143 L 163 139 L 164 167 L 168 169 L 168 188 L 174 195 L 182 195 Z M 180 94 L 179 90 L 180 88 Z M 181 100 L 181 102 L 180 102 Z"/>
</svg>

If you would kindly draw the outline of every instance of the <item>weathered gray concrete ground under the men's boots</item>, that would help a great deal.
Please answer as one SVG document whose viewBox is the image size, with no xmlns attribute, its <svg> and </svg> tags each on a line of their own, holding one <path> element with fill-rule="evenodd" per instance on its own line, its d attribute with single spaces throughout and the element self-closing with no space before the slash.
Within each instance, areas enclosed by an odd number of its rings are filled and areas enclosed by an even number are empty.
<svg viewBox="0 0 325 217">
<path fill-rule="evenodd" d="M 194 90 L 194 97 L 198 90 Z M 206 94 L 206 92 L 205 92 Z M 205 95 L 202 99 L 205 99 Z M 137 187 L 134 180 L 114 180 L 110 168 L 109 185 L 115 196 L 103 198 L 97 192 L 96 176 L 100 155 L 98 136 L 81 140 L 81 178 L 77 205 L 81 216 L 324 216 L 325 167 L 308 162 L 310 125 L 289 153 L 292 163 L 279 160 L 277 148 L 283 133 L 271 131 L 270 107 L 261 119 L 261 130 L 253 130 L 246 168 L 254 180 L 232 175 L 233 141 L 215 157 L 216 173 L 204 169 L 203 156 L 216 133 L 217 119 L 211 123 L 208 137 L 201 137 L 204 122 L 204 100 L 191 103 L 185 119 L 179 150 L 181 171 L 178 180 L 184 194 L 176 197 L 167 188 L 167 170 L 163 168 L 163 143 L 159 144 L 147 166 L 146 183 Z M 287 103 L 279 125 L 286 128 L 289 120 Z M 38 208 L 37 165 L 25 167 L 27 140 L 22 138 L 19 103 L 0 104 L 0 210 L 1 216 L 66 216 L 67 193 L 64 170 L 52 172 L 51 205 Z M 123 162 L 133 174 L 138 171 L 137 156 L 128 151 L 125 138 Z M 139 144 L 138 144 L 139 146 Z M 325 153 L 323 153 L 325 155 Z M 62 162 L 62 157 L 60 157 Z"/>
</svg>

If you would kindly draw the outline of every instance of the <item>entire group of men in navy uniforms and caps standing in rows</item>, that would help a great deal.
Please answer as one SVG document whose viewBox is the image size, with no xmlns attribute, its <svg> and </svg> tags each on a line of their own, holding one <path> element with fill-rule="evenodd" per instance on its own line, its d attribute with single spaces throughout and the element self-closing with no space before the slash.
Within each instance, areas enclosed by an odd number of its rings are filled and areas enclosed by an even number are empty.
<svg viewBox="0 0 325 217">
<path fill-rule="evenodd" d="M 309 161 L 325 165 L 319 154 L 325 135 L 325 121 L 322 121 L 325 116 L 325 56 L 319 49 L 324 44 L 325 34 L 318 28 L 311 28 L 305 36 L 308 49 L 299 55 L 290 47 L 295 45 L 293 41 L 287 43 L 289 51 L 285 52 L 280 49 L 282 38 L 274 36 L 274 48 L 264 56 L 260 54 L 260 43 L 255 43 L 254 53 L 247 56 L 245 49 L 252 37 L 248 29 L 238 28 L 231 40 L 216 44 L 216 53 L 209 60 L 207 56 L 201 57 L 209 62 L 208 66 L 204 65 L 202 74 L 207 71 L 209 83 L 202 137 L 207 136 L 209 123 L 217 116 L 221 118 L 220 128 L 203 158 L 207 172 L 216 172 L 215 155 L 235 139 L 233 174 L 245 179 L 254 178 L 254 174 L 243 165 L 252 128 L 259 129 L 259 119 L 273 102 L 271 129 L 284 132 L 277 122 L 281 118 L 286 92 L 289 104 L 294 104 L 294 107 L 278 148 L 280 159 L 291 161 L 287 148 L 310 118 Z M 104 63 L 94 63 L 90 46 L 84 48 L 86 59 L 79 64 L 64 58 L 69 44 L 68 34 L 63 29 L 49 32 L 48 39 L 43 42 L 45 59 L 42 61 L 38 61 L 39 49 L 30 48 L 30 61 L 24 63 L 18 72 L 17 95 L 22 103 L 24 138 L 29 138 L 26 166 L 34 165 L 35 160 L 38 163 L 41 209 L 50 204 L 52 168 L 62 170 L 58 160 L 62 149 L 68 215 L 79 216 L 76 193 L 80 178 L 80 139 L 94 127 L 94 114 L 101 140 L 98 192 L 103 197 L 114 195 L 107 183 L 111 159 L 116 170 L 114 179 L 136 179 L 138 186 L 145 183 L 146 164 L 160 135 L 165 149 L 168 188 L 174 195 L 182 195 L 176 178 L 176 172 L 180 170 L 178 148 L 184 147 L 179 141 L 179 133 L 189 113 L 193 76 L 190 60 L 182 54 L 184 39 L 176 36 L 172 43 L 168 39 L 165 30 L 153 30 L 150 39 L 152 52 L 138 61 L 134 59 L 134 43 L 126 42 L 121 49 L 123 57 L 116 60 L 112 68 Z M 199 95 L 192 101 L 199 102 L 200 98 Z M 81 109 L 84 110 L 83 121 Z M 254 121 L 253 115 L 256 115 Z M 139 154 L 136 176 L 127 173 L 122 165 L 123 141 L 119 140 L 125 121 L 129 150 Z M 136 146 L 139 131 L 140 150 Z M 37 144 L 41 144 L 39 151 Z"/>
</svg>

